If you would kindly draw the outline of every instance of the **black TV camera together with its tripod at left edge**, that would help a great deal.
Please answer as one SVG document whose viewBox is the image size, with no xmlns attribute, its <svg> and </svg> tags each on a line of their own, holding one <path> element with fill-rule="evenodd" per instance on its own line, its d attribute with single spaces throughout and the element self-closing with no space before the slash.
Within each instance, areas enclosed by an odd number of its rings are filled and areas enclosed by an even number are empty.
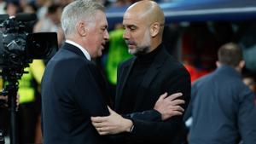
<svg viewBox="0 0 256 144">
<path fill-rule="evenodd" d="M 8 95 L 10 143 L 16 144 L 16 95 L 18 79 L 33 59 L 49 59 L 58 50 L 56 32 L 28 33 L 28 21 L 35 14 L 0 14 L 0 75 L 4 81 L 0 95 Z M 0 137 L 0 142 L 4 142 Z"/>
</svg>

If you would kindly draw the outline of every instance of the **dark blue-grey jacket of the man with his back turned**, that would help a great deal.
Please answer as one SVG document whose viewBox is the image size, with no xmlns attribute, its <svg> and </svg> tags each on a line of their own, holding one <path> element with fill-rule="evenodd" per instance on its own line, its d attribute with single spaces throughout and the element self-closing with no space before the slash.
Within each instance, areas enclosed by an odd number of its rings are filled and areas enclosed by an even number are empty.
<svg viewBox="0 0 256 144">
<path fill-rule="evenodd" d="M 256 143 L 255 95 L 231 66 L 195 81 L 188 112 L 189 144 L 236 144 L 240 137 L 244 144 Z"/>
</svg>

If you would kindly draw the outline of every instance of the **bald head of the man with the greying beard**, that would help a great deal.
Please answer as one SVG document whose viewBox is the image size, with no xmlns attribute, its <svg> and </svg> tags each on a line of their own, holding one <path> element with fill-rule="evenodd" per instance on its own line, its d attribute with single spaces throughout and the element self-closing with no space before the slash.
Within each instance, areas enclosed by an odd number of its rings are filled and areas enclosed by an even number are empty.
<svg viewBox="0 0 256 144">
<path fill-rule="evenodd" d="M 123 37 L 132 55 L 147 54 L 162 43 L 165 16 L 159 5 L 153 1 L 139 1 L 132 4 L 124 14 Z"/>
</svg>

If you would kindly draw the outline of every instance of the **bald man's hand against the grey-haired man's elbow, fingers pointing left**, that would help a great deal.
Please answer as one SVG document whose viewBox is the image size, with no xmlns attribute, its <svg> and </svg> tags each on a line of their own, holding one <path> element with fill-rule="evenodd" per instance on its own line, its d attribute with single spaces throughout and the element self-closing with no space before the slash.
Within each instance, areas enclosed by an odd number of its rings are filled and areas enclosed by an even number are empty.
<svg viewBox="0 0 256 144">
<path fill-rule="evenodd" d="M 123 118 L 108 107 L 108 117 L 91 117 L 91 122 L 100 135 L 113 135 L 122 132 L 130 132 L 133 127 L 132 121 Z"/>
</svg>

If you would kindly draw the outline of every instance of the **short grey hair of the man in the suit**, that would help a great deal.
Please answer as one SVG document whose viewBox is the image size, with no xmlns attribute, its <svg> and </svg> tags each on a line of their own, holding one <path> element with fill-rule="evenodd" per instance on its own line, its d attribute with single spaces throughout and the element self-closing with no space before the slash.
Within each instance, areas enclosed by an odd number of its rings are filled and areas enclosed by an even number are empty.
<svg viewBox="0 0 256 144">
<path fill-rule="evenodd" d="M 95 20 L 97 10 L 105 12 L 104 6 L 92 0 L 76 0 L 69 3 L 62 12 L 61 26 L 65 35 L 72 34 L 76 30 L 79 21 Z"/>
</svg>

